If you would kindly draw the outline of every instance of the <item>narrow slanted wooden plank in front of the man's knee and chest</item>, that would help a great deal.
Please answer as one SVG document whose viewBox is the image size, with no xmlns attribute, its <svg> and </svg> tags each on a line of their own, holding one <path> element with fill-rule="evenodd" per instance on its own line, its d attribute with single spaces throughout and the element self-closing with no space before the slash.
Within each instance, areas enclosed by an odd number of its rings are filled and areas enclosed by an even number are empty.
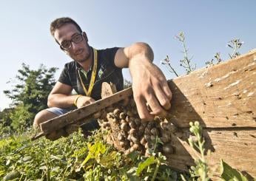
<svg viewBox="0 0 256 181">
<path fill-rule="evenodd" d="M 107 106 L 111 106 L 113 103 L 129 97 L 129 95 L 132 95 L 131 87 L 128 89 L 124 89 L 121 92 L 117 92 L 110 97 L 104 98 L 102 100 L 97 100 L 95 101 L 95 103 L 92 103 L 88 106 L 81 107 L 80 109 L 75 109 L 74 111 L 68 112 L 67 114 L 55 117 L 51 120 L 47 120 L 46 122 L 40 124 L 41 131 L 44 132 L 44 134 L 47 134 L 55 130 L 61 129 L 70 123 L 82 120 L 85 117 L 92 117 L 95 112 L 98 112 L 101 109 L 106 108 Z"/>
</svg>

